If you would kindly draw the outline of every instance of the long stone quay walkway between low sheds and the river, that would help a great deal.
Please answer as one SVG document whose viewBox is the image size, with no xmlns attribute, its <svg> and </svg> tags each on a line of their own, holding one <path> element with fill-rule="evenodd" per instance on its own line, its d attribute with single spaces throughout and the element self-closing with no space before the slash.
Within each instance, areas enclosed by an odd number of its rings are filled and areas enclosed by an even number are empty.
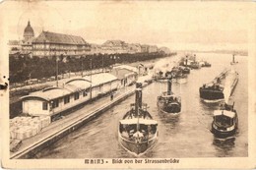
<svg viewBox="0 0 256 170">
<path fill-rule="evenodd" d="M 148 84 L 144 83 L 144 86 Z M 113 100 L 110 96 L 104 96 L 76 110 L 62 119 L 52 122 L 49 126 L 43 128 L 41 132 L 30 139 L 25 139 L 22 142 L 19 150 L 10 152 L 10 158 L 31 158 L 47 147 L 49 144 L 56 142 L 67 134 L 77 130 L 92 119 L 102 114 L 107 109 L 113 107 L 117 103 L 125 100 L 135 92 L 135 85 L 125 86 L 120 88 L 114 94 Z"/>
</svg>

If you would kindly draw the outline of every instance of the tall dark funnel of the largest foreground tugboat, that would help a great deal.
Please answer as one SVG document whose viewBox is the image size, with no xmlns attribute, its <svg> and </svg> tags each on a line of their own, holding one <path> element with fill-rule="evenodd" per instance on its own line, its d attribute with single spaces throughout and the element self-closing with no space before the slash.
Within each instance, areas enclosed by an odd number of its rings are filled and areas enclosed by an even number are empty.
<svg viewBox="0 0 256 170">
<path fill-rule="evenodd" d="M 142 84 L 136 83 L 135 89 L 135 115 L 138 118 L 137 121 L 137 131 L 140 130 L 139 118 L 140 118 L 140 109 L 142 108 Z"/>
</svg>

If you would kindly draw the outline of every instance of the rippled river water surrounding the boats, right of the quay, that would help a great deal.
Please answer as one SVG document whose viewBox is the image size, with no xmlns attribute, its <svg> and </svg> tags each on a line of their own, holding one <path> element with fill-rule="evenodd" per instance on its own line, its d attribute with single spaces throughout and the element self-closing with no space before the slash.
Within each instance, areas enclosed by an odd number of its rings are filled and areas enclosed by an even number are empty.
<svg viewBox="0 0 256 170">
<path fill-rule="evenodd" d="M 238 113 L 238 133 L 231 141 L 218 141 L 211 132 L 213 111 L 218 104 L 206 104 L 199 98 L 199 87 L 211 82 L 224 68 L 230 67 L 230 54 L 198 53 L 197 59 L 203 58 L 212 64 L 210 68 L 192 70 L 186 84 L 173 84 L 172 91 L 181 96 L 182 112 L 175 119 L 168 119 L 159 114 L 157 96 L 166 89 L 164 83 L 154 83 L 143 89 L 143 102 L 153 118 L 159 122 L 159 140 L 142 157 L 244 157 L 248 156 L 248 74 L 247 57 L 236 56 L 235 70 L 239 81 L 232 96 L 234 108 Z M 171 60 L 170 58 L 166 58 Z M 157 62 L 157 61 L 156 61 Z M 134 95 L 106 111 L 100 117 L 78 131 L 64 137 L 36 154 L 37 158 L 128 158 L 134 157 L 125 151 L 117 141 L 118 121 Z"/>
</svg>

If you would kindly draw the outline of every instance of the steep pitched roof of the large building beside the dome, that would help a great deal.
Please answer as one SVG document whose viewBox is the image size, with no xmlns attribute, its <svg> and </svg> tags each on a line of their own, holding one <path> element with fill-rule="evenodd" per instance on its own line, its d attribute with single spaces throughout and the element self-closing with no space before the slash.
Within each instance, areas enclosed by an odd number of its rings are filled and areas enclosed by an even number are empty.
<svg viewBox="0 0 256 170">
<path fill-rule="evenodd" d="M 33 43 L 62 43 L 62 44 L 88 44 L 83 37 L 42 31 L 33 41 Z"/>
</svg>

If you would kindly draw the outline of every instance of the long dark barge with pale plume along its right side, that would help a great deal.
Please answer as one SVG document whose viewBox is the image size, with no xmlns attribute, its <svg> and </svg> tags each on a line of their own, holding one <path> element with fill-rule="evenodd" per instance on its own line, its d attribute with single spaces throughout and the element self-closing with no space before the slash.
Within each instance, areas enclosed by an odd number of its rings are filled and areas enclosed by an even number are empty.
<svg viewBox="0 0 256 170">
<path fill-rule="evenodd" d="M 200 98 L 205 102 L 219 102 L 224 100 L 225 93 L 229 97 L 238 82 L 238 74 L 235 71 L 224 70 L 209 84 L 199 88 Z"/>
</svg>

